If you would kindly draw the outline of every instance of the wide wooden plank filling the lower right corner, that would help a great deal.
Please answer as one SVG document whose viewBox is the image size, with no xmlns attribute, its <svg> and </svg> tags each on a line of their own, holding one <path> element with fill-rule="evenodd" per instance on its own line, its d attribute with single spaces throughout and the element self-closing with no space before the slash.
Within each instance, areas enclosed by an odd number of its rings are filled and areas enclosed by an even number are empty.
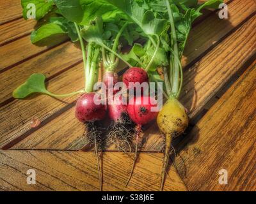
<svg viewBox="0 0 256 204">
<path fill-rule="evenodd" d="M 212 106 L 180 152 L 190 191 L 256 190 L 256 61 Z M 218 171 L 227 170 L 228 185 Z"/>
</svg>

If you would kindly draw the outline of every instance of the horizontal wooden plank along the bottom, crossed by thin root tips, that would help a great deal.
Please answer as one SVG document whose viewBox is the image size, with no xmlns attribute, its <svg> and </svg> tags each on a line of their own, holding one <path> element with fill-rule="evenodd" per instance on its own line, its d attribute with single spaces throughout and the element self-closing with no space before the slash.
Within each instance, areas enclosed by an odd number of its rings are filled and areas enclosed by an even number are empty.
<svg viewBox="0 0 256 204">
<path fill-rule="evenodd" d="M 131 159 L 120 152 L 103 154 L 104 191 L 157 191 L 161 154 L 141 154 L 134 177 L 125 182 Z M 122 168 L 120 168 L 122 166 Z M 36 185 L 28 185 L 29 169 L 36 172 Z M 6 150 L 0 152 L 0 189 L 4 191 L 98 191 L 99 180 L 93 152 Z M 175 173 L 172 168 L 169 173 Z M 179 175 L 166 179 L 165 191 L 186 191 Z"/>
</svg>

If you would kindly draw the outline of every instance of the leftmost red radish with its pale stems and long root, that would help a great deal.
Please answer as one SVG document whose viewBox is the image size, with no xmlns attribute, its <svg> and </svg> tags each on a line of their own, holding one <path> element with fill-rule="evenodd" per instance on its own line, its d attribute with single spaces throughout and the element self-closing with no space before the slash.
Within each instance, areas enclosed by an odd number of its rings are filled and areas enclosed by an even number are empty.
<svg viewBox="0 0 256 204">
<path fill-rule="evenodd" d="M 107 106 L 103 104 L 95 103 L 96 93 L 93 92 L 93 86 L 99 78 L 99 56 L 100 47 L 94 42 L 88 42 L 87 56 L 84 49 L 84 41 L 81 36 L 81 29 L 79 25 L 76 25 L 77 35 L 81 44 L 81 50 L 83 53 L 84 62 L 84 91 L 83 94 L 76 103 L 76 117 L 80 122 L 85 125 L 84 135 L 88 138 L 88 141 L 95 146 L 95 154 L 97 157 L 97 166 L 99 173 L 99 186 L 102 191 L 102 173 L 100 168 L 100 156 L 98 149 L 102 149 L 102 128 L 100 120 L 104 119 L 107 112 Z"/>
</svg>

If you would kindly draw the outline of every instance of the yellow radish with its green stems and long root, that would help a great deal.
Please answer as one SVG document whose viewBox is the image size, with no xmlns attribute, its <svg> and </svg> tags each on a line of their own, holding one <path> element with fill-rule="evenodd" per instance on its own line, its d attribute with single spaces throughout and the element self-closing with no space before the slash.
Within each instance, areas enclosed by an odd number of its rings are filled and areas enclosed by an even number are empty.
<svg viewBox="0 0 256 204">
<path fill-rule="evenodd" d="M 160 190 L 163 191 L 164 179 L 168 161 L 170 157 L 172 139 L 182 135 L 188 128 L 188 115 L 184 106 L 178 101 L 182 90 L 183 70 L 181 66 L 181 57 L 184 47 L 180 48 L 177 41 L 177 31 L 175 21 L 173 19 L 173 11 L 170 8 L 168 0 L 164 0 L 168 10 L 170 20 L 172 45 L 170 45 L 172 53 L 170 54 L 170 70 L 163 69 L 164 83 L 168 94 L 168 101 L 164 104 L 162 110 L 157 115 L 157 126 L 165 135 L 166 147 L 163 159 L 163 169 L 161 174 Z M 185 41 L 186 43 L 186 41 Z M 180 49 L 180 50 L 179 50 Z"/>
</svg>

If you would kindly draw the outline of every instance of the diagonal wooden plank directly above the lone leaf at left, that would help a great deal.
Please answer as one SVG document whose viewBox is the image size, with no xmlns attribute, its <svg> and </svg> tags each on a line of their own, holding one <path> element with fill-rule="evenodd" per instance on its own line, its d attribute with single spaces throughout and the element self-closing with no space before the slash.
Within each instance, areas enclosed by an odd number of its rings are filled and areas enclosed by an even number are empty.
<svg viewBox="0 0 256 204">
<path fill-rule="evenodd" d="M 0 105 L 12 98 L 12 91 L 31 74 L 43 73 L 47 78 L 52 78 L 79 61 L 82 61 L 80 48 L 68 41 L 0 73 Z"/>
</svg>

